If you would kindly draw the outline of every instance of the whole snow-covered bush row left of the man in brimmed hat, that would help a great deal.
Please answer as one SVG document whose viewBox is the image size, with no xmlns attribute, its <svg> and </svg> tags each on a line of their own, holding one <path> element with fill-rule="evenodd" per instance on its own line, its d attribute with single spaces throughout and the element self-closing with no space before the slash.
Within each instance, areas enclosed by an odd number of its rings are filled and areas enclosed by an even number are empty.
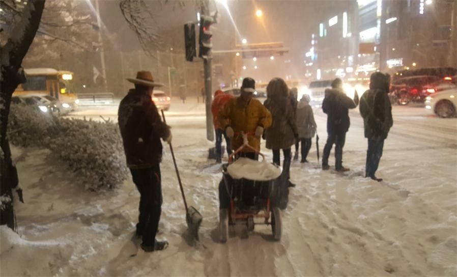
<svg viewBox="0 0 457 277">
<path fill-rule="evenodd" d="M 127 177 L 115 123 L 58 118 L 29 106 L 11 105 L 8 128 L 12 144 L 49 148 L 87 189 L 114 188 Z"/>
</svg>

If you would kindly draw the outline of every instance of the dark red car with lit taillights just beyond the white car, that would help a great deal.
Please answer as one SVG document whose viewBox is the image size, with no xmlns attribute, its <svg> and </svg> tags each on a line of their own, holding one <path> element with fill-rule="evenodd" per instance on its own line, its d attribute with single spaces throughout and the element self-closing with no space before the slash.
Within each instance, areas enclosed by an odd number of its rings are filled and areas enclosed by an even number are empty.
<svg viewBox="0 0 457 277">
<path fill-rule="evenodd" d="M 425 97 L 437 91 L 435 84 L 441 77 L 432 75 L 411 76 L 399 78 L 390 86 L 390 99 L 392 103 L 408 105 L 409 102 L 424 102 Z"/>
</svg>

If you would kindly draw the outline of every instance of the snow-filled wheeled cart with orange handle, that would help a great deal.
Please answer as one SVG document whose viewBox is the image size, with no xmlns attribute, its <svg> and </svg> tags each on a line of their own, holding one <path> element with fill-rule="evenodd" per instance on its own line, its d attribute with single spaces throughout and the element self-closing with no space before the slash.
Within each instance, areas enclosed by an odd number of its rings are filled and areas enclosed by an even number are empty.
<svg viewBox="0 0 457 277">
<path fill-rule="evenodd" d="M 275 195 L 277 194 L 282 168 L 269 163 L 265 156 L 251 147 L 247 134 L 243 135 L 243 145 L 229 157 L 229 163 L 222 165 L 223 185 L 230 196 L 230 208 L 219 210 L 220 241 L 225 243 L 229 237 L 229 225 L 246 224 L 248 231 L 254 230 L 255 224 L 271 225 L 273 238 L 281 239 L 281 215 Z M 262 156 L 262 161 L 240 157 L 233 158 L 244 147 L 252 149 Z M 222 188 L 222 189 L 224 189 Z M 254 218 L 263 218 L 263 222 Z"/>
</svg>

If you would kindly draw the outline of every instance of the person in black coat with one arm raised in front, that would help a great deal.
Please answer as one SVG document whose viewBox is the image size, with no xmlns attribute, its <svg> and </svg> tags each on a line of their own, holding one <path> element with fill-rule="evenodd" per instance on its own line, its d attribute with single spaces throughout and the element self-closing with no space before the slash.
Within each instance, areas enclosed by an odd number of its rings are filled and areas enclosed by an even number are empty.
<svg viewBox="0 0 457 277">
<path fill-rule="evenodd" d="M 327 114 L 327 142 L 322 156 L 322 169 L 330 169 L 328 157 L 335 144 L 335 169 L 339 172 L 349 171 L 342 166 L 342 148 L 345 145 L 346 132 L 349 130 L 349 109 L 355 108 L 359 103 L 357 92 L 354 100 L 349 98 L 342 90 L 342 81 L 336 78 L 332 81 L 332 88 L 325 90 L 325 98 L 322 102 L 322 109 Z"/>
</svg>

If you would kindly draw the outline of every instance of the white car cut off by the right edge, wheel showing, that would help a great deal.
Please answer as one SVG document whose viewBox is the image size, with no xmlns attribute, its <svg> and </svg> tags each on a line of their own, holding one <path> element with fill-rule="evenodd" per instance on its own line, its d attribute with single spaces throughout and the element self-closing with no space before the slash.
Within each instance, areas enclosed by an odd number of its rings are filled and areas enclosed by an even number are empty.
<svg viewBox="0 0 457 277">
<path fill-rule="evenodd" d="M 457 116 L 457 89 L 444 90 L 427 96 L 425 108 L 441 118 Z"/>
</svg>

